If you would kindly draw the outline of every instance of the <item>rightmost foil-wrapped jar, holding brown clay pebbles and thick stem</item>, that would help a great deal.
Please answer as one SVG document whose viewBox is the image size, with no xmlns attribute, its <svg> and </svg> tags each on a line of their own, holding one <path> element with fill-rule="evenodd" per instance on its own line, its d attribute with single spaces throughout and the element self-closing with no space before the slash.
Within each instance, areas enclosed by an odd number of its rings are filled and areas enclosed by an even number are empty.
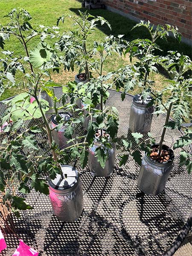
<svg viewBox="0 0 192 256">
<path fill-rule="evenodd" d="M 169 174 L 172 170 L 174 152 L 166 145 L 163 145 L 162 149 L 169 150 L 171 152 L 171 158 L 167 163 L 157 163 L 146 153 L 142 160 L 137 179 L 137 186 L 147 195 L 160 194 L 165 188 Z"/>
</svg>

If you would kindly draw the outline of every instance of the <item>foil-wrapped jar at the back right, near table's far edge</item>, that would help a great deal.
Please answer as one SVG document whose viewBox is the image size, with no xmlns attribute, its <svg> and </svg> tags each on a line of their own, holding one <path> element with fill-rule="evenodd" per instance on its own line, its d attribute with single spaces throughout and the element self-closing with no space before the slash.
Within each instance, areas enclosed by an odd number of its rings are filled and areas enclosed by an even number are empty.
<svg viewBox="0 0 192 256">
<path fill-rule="evenodd" d="M 153 106 L 147 107 L 151 99 L 151 96 L 149 96 L 143 102 L 140 94 L 134 96 L 129 117 L 129 128 L 132 132 L 145 134 L 151 130 L 154 108 Z"/>
</svg>

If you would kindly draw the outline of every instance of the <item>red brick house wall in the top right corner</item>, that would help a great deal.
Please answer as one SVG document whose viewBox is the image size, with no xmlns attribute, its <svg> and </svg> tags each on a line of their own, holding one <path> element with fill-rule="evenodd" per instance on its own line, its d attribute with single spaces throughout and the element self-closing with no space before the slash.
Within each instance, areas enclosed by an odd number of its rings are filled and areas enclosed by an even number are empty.
<svg viewBox="0 0 192 256">
<path fill-rule="evenodd" d="M 103 0 L 106 6 L 131 15 L 134 19 L 150 20 L 154 25 L 172 24 L 184 38 L 192 39 L 192 0 Z"/>
</svg>

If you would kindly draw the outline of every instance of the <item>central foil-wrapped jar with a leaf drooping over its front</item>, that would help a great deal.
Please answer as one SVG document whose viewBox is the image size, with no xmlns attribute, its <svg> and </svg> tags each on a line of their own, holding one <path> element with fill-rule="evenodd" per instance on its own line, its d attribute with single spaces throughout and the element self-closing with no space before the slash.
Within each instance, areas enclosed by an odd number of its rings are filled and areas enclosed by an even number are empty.
<svg viewBox="0 0 192 256">
<path fill-rule="evenodd" d="M 105 163 L 105 168 L 102 168 L 96 157 L 96 148 L 98 148 L 97 140 L 94 145 L 89 148 L 89 169 L 90 173 L 96 177 L 109 177 L 114 170 L 115 157 L 116 157 L 116 144 L 112 144 L 112 148 L 108 149 L 108 160 Z"/>
</svg>

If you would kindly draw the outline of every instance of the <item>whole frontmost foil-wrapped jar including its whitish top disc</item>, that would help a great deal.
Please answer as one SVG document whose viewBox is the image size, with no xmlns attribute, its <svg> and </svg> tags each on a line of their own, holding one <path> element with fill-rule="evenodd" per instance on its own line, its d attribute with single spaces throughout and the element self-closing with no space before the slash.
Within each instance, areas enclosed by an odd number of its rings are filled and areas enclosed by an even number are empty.
<svg viewBox="0 0 192 256">
<path fill-rule="evenodd" d="M 55 216 L 61 221 L 72 222 L 83 210 L 82 184 L 73 166 L 61 165 L 64 179 L 57 174 L 54 180 L 48 178 L 49 198 Z"/>
</svg>

